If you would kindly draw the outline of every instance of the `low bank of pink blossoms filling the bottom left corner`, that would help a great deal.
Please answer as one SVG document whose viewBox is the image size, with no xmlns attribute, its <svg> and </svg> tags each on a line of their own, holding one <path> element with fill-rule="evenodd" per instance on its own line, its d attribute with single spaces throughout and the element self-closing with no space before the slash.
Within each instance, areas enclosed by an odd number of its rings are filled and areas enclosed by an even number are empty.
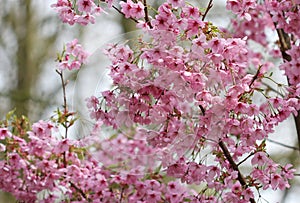
<svg viewBox="0 0 300 203">
<path fill-rule="evenodd" d="M 113 140 L 70 140 L 59 138 L 56 131 L 45 121 L 34 123 L 22 136 L 0 128 L 1 190 L 22 201 L 45 203 L 195 199 L 195 192 L 178 181 L 163 180 L 154 163 L 142 167 L 149 163 L 146 155 L 154 154 L 146 141 L 122 134 Z"/>
</svg>

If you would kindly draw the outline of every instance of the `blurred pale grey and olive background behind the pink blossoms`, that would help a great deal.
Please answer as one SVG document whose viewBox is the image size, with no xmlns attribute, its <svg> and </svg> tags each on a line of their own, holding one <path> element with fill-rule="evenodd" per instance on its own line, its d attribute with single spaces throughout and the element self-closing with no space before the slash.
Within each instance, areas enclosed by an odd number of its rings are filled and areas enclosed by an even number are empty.
<svg viewBox="0 0 300 203">
<path fill-rule="evenodd" d="M 160 1 L 148 0 L 153 7 Z M 91 121 L 85 108 L 87 96 L 109 87 L 108 61 L 101 54 L 107 42 L 122 41 L 135 34 L 135 25 L 111 11 L 101 15 L 95 25 L 63 25 L 50 5 L 55 0 L 0 0 L 0 116 L 16 109 L 18 115 L 26 115 L 32 122 L 47 120 L 54 115 L 57 107 L 62 106 L 61 84 L 56 68 L 56 53 L 63 44 L 78 38 L 83 47 L 91 53 L 90 61 L 82 70 L 67 75 L 69 84 L 68 101 L 80 115 L 79 124 L 73 129 L 75 137 L 81 137 L 89 129 Z M 207 1 L 195 1 L 205 7 Z M 113 15 L 111 15 L 113 14 Z M 207 20 L 227 27 L 229 15 L 225 11 L 225 1 L 214 1 Z M 123 34 L 131 33 L 131 34 Z M 275 69 L 278 80 L 286 82 L 282 73 Z M 299 168 L 299 149 L 283 146 L 297 146 L 293 118 L 282 123 L 276 133 L 270 136 L 269 152 L 280 163 L 293 163 Z M 1 175 L 1 174 L 0 174 Z M 292 186 L 286 191 L 262 194 L 265 202 L 297 202 L 300 179 L 295 177 Z M 16 200 L 8 193 L 1 192 L 0 203 Z"/>
</svg>

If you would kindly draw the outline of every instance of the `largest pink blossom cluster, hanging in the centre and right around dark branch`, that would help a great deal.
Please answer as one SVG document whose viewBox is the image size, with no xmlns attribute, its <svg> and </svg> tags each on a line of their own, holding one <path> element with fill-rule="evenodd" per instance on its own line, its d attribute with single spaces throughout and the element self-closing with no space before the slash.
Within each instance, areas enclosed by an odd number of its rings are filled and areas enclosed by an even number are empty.
<svg viewBox="0 0 300 203">
<path fill-rule="evenodd" d="M 252 13 L 256 4 L 244 3 Z M 225 202 L 248 202 L 257 188 L 289 187 L 293 169 L 266 156 L 264 140 L 297 114 L 299 100 L 268 94 L 262 80 L 272 81 L 271 64 L 250 50 L 246 39 L 224 38 L 200 17 L 191 6 L 174 9 L 164 3 L 151 26 L 142 26 L 150 41 L 140 39 L 139 50 L 109 45 L 105 54 L 114 88 L 89 99 L 91 117 L 116 129 L 137 126 L 138 134 L 162 150 L 168 175 L 216 191 L 212 196 L 200 191 L 199 201 L 221 196 Z M 253 103 L 254 94 L 262 94 L 263 102 Z M 214 164 L 199 161 L 205 150 Z M 263 165 L 256 161 L 262 154 Z M 242 177 L 229 160 L 243 162 L 245 155 L 254 156 L 253 167 Z"/>
</svg>

